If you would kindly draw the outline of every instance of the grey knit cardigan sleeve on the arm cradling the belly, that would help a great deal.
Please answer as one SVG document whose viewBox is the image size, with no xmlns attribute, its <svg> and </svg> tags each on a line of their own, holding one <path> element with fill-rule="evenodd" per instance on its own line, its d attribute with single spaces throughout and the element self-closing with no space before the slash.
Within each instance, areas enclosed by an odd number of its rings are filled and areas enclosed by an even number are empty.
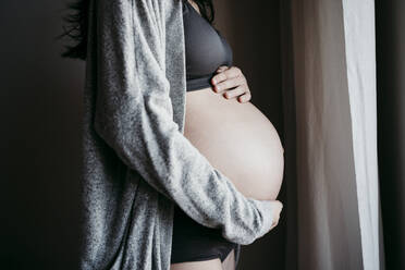
<svg viewBox="0 0 405 270">
<path fill-rule="evenodd" d="M 97 1 L 95 131 L 192 219 L 221 229 L 229 241 L 250 244 L 271 228 L 270 201 L 240 193 L 173 121 L 164 64 L 168 2 Z"/>
</svg>

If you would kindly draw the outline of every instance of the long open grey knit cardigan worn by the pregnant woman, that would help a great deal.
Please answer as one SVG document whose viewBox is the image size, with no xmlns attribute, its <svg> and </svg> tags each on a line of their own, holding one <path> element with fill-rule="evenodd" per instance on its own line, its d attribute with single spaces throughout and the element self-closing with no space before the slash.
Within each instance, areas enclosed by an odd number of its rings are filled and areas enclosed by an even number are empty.
<svg viewBox="0 0 405 270">
<path fill-rule="evenodd" d="M 270 202 L 243 196 L 183 135 L 182 8 L 90 1 L 79 269 L 169 270 L 174 204 L 241 245 L 271 228 Z"/>
</svg>

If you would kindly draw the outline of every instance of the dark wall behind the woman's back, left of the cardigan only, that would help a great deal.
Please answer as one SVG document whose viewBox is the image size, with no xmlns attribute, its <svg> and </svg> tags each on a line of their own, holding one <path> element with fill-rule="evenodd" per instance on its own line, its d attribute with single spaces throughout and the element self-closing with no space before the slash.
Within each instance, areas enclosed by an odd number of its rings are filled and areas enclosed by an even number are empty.
<svg viewBox="0 0 405 270">
<path fill-rule="evenodd" d="M 62 1 L 0 1 L 0 268 L 76 269 L 84 63 L 59 57 Z"/>
</svg>

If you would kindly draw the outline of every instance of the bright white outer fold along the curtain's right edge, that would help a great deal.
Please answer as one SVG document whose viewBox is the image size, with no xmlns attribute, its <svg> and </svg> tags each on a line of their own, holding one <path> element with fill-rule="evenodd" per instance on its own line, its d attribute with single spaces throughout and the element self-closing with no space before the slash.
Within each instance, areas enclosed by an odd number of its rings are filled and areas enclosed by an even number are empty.
<svg viewBox="0 0 405 270">
<path fill-rule="evenodd" d="M 365 269 L 379 269 L 375 1 L 343 1 L 346 73 Z"/>
</svg>

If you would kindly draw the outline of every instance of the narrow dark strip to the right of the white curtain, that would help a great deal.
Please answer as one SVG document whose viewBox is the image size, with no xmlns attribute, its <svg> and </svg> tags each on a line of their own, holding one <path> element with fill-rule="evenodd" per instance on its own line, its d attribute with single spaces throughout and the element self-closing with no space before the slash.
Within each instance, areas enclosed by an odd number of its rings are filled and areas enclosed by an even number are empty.
<svg viewBox="0 0 405 270">
<path fill-rule="evenodd" d="M 386 269 L 405 269 L 405 2 L 376 1 L 378 151 Z"/>
</svg>

